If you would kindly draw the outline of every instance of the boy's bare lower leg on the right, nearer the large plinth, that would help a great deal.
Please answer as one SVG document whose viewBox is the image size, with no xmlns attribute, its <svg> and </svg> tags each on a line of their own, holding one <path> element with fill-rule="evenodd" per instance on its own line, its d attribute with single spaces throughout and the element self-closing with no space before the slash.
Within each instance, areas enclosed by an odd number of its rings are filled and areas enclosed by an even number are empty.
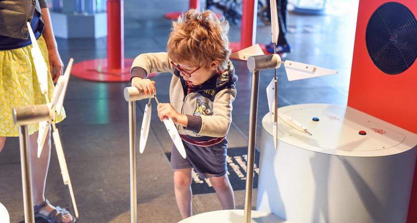
<svg viewBox="0 0 417 223">
<path fill-rule="evenodd" d="M 227 174 L 219 177 L 212 176 L 209 179 L 211 185 L 213 185 L 213 188 L 216 191 L 217 198 L 220 201 L 223 210 L 235 209 L 233 188 L 232 185 L 230 185 Z"/>
</svg>

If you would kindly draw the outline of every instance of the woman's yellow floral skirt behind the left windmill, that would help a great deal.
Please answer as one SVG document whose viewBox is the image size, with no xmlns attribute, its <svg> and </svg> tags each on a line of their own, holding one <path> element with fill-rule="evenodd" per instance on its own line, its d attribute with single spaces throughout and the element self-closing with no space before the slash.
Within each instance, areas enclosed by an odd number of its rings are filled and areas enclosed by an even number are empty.
<svg viewBox="0 0 417 223">
<path fill-rule="evenodd" d="M 52 97 L 54 83 L 49 71 L 48 49 L 43 36 L 39 37 L 38 45 L 48 66 L 48 95 Z M 30 49 L 27 47 L 0 51 L 0 136 L 18 136 L 18 126 L 13 122 L 12 109 L 22 106 L 46 104 L 45 96 L 36 76 Z M 65 111 L 58 115 L 56 122 L 66 117 Z M 38 123 L 28 126 L 29 134 L 38 131 Z"/>
</svg>

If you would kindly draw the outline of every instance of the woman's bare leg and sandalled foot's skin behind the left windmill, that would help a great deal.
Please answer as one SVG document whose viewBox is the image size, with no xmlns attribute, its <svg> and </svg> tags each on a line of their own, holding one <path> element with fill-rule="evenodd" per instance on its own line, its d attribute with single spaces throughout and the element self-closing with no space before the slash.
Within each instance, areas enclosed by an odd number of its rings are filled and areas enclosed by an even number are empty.
<svg viewBox="0 0 417 223">
<path fill-rule="evenodd" d="M 30 150 L 30 167 L 32 170 L 32 187 L 33 187 L 33 203 L 39 205 L 45 201 L 45 184 L 48 173 L 49 161 L 51 158 L 51 130 L 45 140 L 42 149 L 41 157 L 38 158 L 38 132 L 29 136 L 29 150 Z M 46 206 L 40 210 L 40 214 L 48 216 L 48 214 L 55 210 L 52 205 Z M 62 217 L 62 223 L 69 223 L 72 221 L 71 215 L 66 214 Z"/>
</svg>

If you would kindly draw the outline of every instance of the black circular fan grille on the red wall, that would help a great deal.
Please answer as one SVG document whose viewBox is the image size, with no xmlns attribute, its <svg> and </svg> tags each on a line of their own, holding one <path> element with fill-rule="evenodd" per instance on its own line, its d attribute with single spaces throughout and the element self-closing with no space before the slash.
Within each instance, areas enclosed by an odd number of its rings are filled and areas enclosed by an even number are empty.
<svg viewBox="0 0 417 223">
<path fill-rule="evenodd" d="M 366 27 L 366 48 L 375 65 L 387 74 L 406 71 L 417 57 L 417 20 L 407 6 L 379 6 Z"/>
</svg>

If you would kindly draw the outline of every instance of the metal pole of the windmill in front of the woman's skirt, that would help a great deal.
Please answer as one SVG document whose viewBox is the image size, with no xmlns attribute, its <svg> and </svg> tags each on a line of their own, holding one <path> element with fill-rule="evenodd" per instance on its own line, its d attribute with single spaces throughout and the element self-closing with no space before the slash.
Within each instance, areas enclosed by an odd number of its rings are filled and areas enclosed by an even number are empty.
<svg viewBox="0 0 417 223">
<path fill-rule="evenodd" d="M 30 167 L 29 134 L 27 125 L 19 126 L 19 141 L 25 223 L 35 223 L 32 196 L 32 172 Z"/>
</svg>

